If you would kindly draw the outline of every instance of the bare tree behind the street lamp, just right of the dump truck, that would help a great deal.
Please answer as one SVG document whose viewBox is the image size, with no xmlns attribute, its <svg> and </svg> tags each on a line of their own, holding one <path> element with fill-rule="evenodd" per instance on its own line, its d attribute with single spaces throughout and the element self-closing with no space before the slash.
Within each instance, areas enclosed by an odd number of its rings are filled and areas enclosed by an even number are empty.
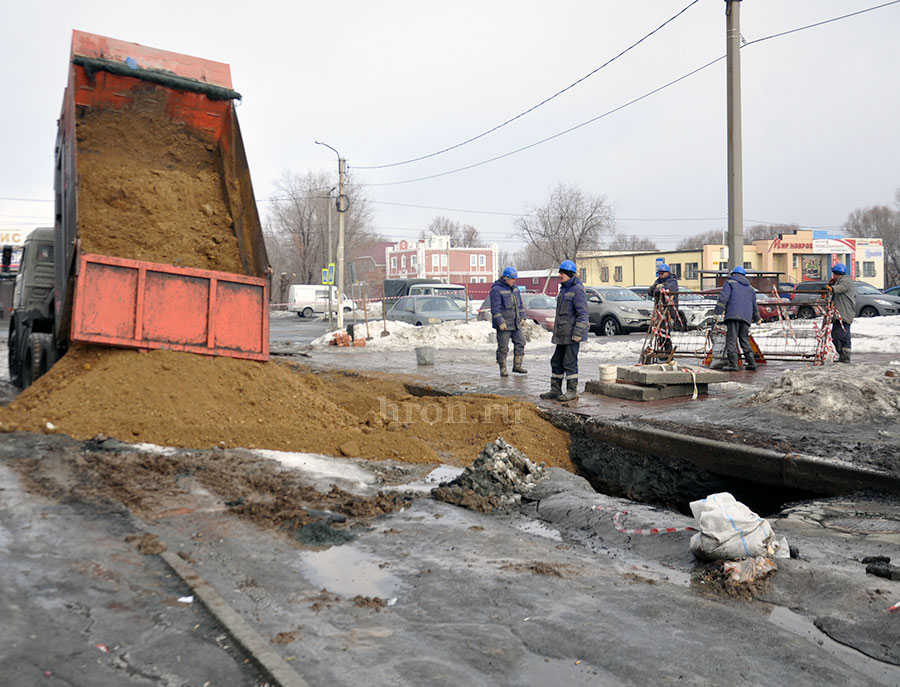
<svg viewBox="0 0 900 687">
<path fill-rule="evenodd" d="M 338 213 L 330 197 L 335 186 L 333 174 L 307 172 L 299 175 L 285 172 L 276 182 L 278 197 L 271 201 L 264 236 L 275 274 L 296 275 L 299 283 L 321 281 L 321 269 L 328 262 L 328 212 L 332 214 L 332 256 L 336 254 Z M 371 211 L 362 193 L 351 183 L 344 192 L 350 198 L 350 209 L 344 215 L 344 251 L 377 240 L 370 228 Z"/>
</svg>

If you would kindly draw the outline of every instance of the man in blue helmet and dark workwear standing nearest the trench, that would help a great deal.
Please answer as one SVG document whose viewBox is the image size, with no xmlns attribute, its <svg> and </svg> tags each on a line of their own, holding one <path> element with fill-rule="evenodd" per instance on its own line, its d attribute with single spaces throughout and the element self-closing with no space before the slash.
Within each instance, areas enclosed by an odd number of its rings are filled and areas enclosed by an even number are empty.
<svg viewBox="0 0 900 687">
<path fill-rule="evenodd" d="M 556 320 L 552 343 L 556 350 L 550 358 L 550 391 L 541 398 L 574 401 L 578 398 L 578 347 L 588 334 L 587 294 L 576 277 L 578 268 L 571 260 L 559 266 L 559 294 L 556 296 Z M 562 390 L 563 379 L 566 390 Z"/>
</svg>

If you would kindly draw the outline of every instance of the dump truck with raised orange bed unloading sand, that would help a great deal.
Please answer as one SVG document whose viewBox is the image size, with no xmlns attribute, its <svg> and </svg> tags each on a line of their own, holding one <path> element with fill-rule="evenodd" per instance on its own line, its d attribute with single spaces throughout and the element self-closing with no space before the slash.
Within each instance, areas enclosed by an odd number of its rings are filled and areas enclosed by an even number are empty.
<svg viewBox="0 0 900 687">
<path fill-rule="evenodd" d="M 74 31 L 55 222 L 26 243 L 9 370 L 74 342 L 268 359 L 271 269 L 227 64 Z"/>
</svg>

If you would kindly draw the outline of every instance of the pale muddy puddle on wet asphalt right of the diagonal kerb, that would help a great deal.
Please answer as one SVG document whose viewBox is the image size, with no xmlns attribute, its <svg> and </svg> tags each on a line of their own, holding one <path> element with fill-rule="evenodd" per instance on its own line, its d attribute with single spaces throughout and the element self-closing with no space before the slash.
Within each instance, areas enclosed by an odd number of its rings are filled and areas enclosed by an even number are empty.
<svg viewBox="0 0 900 687">
<path fill-rule="evenodd" d="M 382 599 L 396 596 L 400 580 L 378 567 L 380 561 L 350 546 L 300 554 L 300 573 L 318 588 L 352 598 L 357 594 Z"/>
</svg>

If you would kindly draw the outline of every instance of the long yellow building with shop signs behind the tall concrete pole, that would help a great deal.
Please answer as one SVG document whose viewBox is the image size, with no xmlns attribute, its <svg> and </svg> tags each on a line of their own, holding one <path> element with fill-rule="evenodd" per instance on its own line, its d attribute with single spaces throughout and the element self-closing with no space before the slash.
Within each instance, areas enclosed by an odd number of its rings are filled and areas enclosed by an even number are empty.
<svg viewBox="0 0 900 687">
<path fill-rule="evenodd" d="M 744 268 L 778 272 L 784 282 L 829 279 L 837 263 L 849 267 L 854 279 L 883 289 L 884 247 L 881 239 L 844 238 L 827 232 L 801 230 L 744 246 Z M 728 268 L 728 247 L 710 244 L 696 250 L 586 251 L 578 254 L 580 277 L 595 286 L 646 286 L 656 279 L 656 266 L 666 263 L 679 283 L 701 290 L 701 272 Z"/>
</svg>

